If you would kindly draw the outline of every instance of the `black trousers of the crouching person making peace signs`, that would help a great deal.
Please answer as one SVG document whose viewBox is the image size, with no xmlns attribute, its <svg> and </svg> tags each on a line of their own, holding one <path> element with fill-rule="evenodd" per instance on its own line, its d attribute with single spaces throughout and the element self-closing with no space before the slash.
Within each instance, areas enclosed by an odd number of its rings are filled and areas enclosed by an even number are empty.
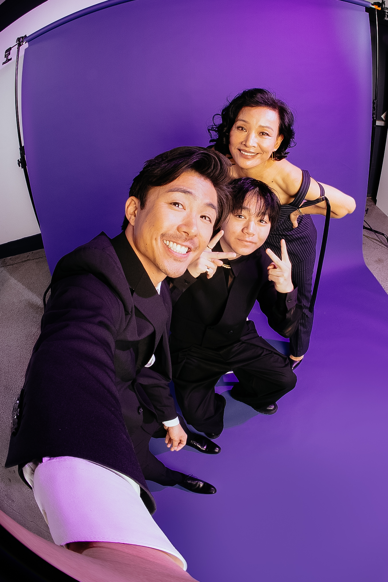
<svg viewBox="0 0 388 582">
<path fill-rule="evenodd" d="M 226 400 L 214 387 L 230 370 L 239 379 L 233 398 L 254 409 L 275 403 L 297 381 L 287 357 L 257 334 L 214 349 L 198 345 L 182 349 L 181 341 L 171 335 L 170 354 L 177 402 L 187 423 L 200 432 L 223 430 Z"/>
</svg>

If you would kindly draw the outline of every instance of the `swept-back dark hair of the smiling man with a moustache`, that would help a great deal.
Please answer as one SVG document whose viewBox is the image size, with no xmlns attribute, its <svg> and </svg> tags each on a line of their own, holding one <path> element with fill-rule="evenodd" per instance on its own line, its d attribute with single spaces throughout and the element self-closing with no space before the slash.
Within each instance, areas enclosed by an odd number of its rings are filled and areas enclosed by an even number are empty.
<svg viewBox="0 0 388 582">
<path fill-rule="evenodd" d="M 152 186 L 165 186 L 173 182 L 183 172 L 196 172 L 211 182 L 217 193 L 217 218 L 214 229 L 230 214 L 230 162 L 223 155 L 204 147 L 176 147 L 148 159 L 143 169 L 133 179 L 129 196 L 140 200 L 140 208 L 145 207 L 147 194 Z M 124 217 L 122 230 L 129 221 Z"/>
</svg>

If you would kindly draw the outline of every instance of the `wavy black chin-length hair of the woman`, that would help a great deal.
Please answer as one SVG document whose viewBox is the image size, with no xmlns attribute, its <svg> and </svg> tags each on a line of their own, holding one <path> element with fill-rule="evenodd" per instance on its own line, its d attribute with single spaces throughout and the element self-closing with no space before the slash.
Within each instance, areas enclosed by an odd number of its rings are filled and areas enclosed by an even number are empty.
<svg viewBox="0 0 388 582">
<path fill-rule="evenodd" d="M 243 107 L 268 107 L 277 112 L 279 115 L 279 135 L 283 136 L 283 140 L 273 156 L 277 160 L 286 158 L 289 155 L 288 148 L 295 145 L 294 116 L 288 105 L 277 99 L 275 93 L 270 93 L 266 89 L 247 89 L 228 102 L 221 113 L 213 115 L 213 125 L 208 127 L 208 133 L 211 137 L 209 143 L 214 144 L 215 150 L 221 154 L 230 155 L 229 133 Z M 221 118 L 221 122 L 218 124 L 215 122 L 217 117 Z"/>
</svg>

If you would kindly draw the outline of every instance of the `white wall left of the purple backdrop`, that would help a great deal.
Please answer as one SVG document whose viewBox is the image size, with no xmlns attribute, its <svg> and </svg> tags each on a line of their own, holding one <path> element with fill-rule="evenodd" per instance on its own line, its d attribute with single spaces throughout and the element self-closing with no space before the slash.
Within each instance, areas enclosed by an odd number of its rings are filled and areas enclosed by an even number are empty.
<svg viewBox="0 0 388 582">
<path fill-rule="evenodd" d="M 99 3 L 98 0 L 47 0 L 0 32 L 0 62 L 4 61 L 4 51 L 15 44 L 17 37 L 32 34 L 55 20 Z M 19 96 L 25 49 L 23 45 L 20 50 Z M 40 232 L 23 170 L 17 165 L 20 156 L 14 97 L 16 48 L 12 49 L 11 56 L 12 61 L 0 65 L 0 244 Z M 21 109 L 19 100 L 19 113 Z M 27 158 L 27 168 L 28 163 Z"/>
</svg>

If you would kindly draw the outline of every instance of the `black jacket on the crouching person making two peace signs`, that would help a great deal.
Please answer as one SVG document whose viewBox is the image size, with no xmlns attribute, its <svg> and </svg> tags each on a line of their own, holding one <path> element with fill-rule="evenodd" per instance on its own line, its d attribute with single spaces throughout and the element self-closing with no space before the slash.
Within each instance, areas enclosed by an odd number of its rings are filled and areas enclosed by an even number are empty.
<svg viewBox="0 0 388 582">
<path fill-rule="evenodd" d="M 220 243 L 214 247 L 222 252 Z M 250 255 L 230 261 L 234 281 L 229 290 L 223 267 L 218 267 L 211 279 L 198 277 L 185 292 L 173 289 L 177 299 L 172 314 L 171 332 L 184 345 L 221 347 L 236 342 L 251 331 L 254 324 L 247 321 L 255 301 L 259 302 L 268 323 L 284 338 L 297 329 L 302 307 L 297 304 L 297 289 L 278 293 L 268 281 L 267 267 L 271 260 L 262 248 Z M 180 285 L 180 279 L 173 281 Z"/>
</svg>

